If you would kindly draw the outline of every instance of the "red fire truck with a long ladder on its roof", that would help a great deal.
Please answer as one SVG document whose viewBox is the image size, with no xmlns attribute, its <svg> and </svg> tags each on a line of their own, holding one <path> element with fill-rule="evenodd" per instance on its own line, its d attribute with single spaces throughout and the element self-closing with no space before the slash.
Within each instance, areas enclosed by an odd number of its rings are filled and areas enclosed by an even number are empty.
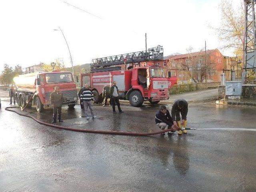
<svg viewBox="0 0 256 192">
<path fill-rule="evenodd" d="M 101 103 L 103 86 L 112 86 L 116 81 L 120 99 L 129 100 L 132 106 L 141 106 L 146 100 L 156 104 L 169 99 L 169 79 L 164 77 L 164 70 L 159 66 L 141 66 L 140 63 L 162 59 L 162 46 L 93 59 L 91 72 L 80 74 L 81 87 L 88 83 L 94 94 L 94 102 Z"/>
</svg>

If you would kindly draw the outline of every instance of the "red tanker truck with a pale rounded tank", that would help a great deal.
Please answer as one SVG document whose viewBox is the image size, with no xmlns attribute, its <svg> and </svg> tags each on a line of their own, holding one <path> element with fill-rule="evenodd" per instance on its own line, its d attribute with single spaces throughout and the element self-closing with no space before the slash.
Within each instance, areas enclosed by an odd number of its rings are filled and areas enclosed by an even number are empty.
<svg viewBox="0 0 256 192">
<path fill-rule="evenodd" d="M 74 108 L 77 97 L 76 84 L 70 72 L 37 72 L 23 74 L 14 78 L 16 89 L 16 100 L 23 108 L 28 103 L 30 96 L 32 100 L 27 107 L 36 106 L 38 112 L 42 112 L 45 107 L 50 106 L 50 94 L 55 86 L 59 86 L 64 96 L 64 105 Z"/>
</svg>

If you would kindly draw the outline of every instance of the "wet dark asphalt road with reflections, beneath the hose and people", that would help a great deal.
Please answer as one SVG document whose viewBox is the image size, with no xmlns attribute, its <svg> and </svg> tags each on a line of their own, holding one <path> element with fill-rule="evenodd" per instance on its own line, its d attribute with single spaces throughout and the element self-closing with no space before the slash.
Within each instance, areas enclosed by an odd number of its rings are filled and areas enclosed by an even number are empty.
<svg viewBox="0 0 256 192">
<path fill-rule="evenodd" d="M 0 191 L 256 191 L 256 108 L 191 103 L 178 136 L 121 136 L 72 132 L 0 110 Z M 122 105 L 123 114 L 94 106 L 97 119 L 63 107 L 65 126 L 149 132 L 158 130 L 159 105 Z M 20 110 L 20 109 L 17 109 Z M 51 121 L 51 110 L 32 114 Z M 247 131 L 239 128 L 251 129 Z"/>
</svg>

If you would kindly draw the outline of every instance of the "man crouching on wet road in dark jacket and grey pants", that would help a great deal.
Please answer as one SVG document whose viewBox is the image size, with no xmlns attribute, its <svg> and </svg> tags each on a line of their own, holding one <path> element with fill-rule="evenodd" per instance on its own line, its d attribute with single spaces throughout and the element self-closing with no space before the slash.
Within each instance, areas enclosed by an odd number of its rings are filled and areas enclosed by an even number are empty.
<svg viewBox="0 0 256 192">
<path fill-rule="evenodd" d="M 161 105 L 160 106 L 160 110 L 158 110 L 156 112 L 156 126 L 158 126 L 158 128 L 164 130 L 164 129 L 168 129 L 168 128 L 172 128 L 171 132 L 168 133 L 172 133 L 175 132 L 176 130 L 179 130 L 178 126 L 173 124 L 172 121 L 172 117 L 170 116 L 170 112 L 169 110 L 166 109 L 166 106 Z M 162 133 L 164 135 L 164 133 Z"/>
</svg>

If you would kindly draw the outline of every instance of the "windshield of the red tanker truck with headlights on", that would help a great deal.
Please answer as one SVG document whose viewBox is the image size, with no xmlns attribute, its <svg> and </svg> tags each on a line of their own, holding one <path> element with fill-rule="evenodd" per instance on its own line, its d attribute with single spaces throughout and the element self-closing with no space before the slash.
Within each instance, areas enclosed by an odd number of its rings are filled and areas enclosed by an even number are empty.
<svg viewBox="0 0 256 192">
<path fill-rule="evenodd" d="M 46 83 L 73 82 L 71 73 L 49 73 L 45 75 Z"/>
</svg>

